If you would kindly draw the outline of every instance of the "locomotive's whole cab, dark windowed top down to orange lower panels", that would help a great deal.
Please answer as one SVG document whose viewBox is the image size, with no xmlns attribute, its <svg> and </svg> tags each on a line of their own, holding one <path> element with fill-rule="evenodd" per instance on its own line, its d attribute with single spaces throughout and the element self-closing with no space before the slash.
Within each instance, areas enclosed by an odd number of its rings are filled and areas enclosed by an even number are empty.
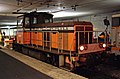
<svg viewBox="0 0 120 79">
<path fill-rule="evenodd" d="M 25 13 L 17 18 L 16 42 L 19 44 L 31 45 L 31 36 L 34 36 L 35 32 L 30 31 L 34 28 L 34 25 L 53 22 L 53 15 L 46 12 Z"/>
</svg>

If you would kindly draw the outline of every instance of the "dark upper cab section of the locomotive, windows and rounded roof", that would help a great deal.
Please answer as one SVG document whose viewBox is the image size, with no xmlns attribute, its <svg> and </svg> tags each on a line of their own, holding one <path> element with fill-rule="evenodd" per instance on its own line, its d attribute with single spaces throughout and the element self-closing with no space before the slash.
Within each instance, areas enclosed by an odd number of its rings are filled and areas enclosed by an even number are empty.
<svg viewBox="0 0 120 79">
<path fill-rule="evenodd" d="M 31 27 L 33 24 L 50 22 L 53 22 L 53 15 L 46 12 L 31 12 L 23 15 L 23 27 Z"/>
</svg>

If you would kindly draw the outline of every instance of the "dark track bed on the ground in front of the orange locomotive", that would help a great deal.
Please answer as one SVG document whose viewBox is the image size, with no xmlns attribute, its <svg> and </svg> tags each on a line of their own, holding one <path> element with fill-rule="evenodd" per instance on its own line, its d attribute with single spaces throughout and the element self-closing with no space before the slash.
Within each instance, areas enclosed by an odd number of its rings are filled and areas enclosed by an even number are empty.
<svg viewBox="0 0 120 79">
<path fill-rule="evenodd" d="M 73 73 L 89 79 L 120 79 L 120 63 L 112 60 L 94 68 L 76 68 Z"/>
</svg>

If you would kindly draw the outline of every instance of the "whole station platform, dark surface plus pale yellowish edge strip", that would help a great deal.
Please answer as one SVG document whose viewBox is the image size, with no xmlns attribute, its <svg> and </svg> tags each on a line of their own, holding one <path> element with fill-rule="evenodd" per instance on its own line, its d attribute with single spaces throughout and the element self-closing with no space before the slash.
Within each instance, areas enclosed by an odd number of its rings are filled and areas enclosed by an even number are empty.
<svg viewBox="0 0 120 79">
<path fill-rule="evenodd" d="M 0 46 L 1 79 L 87 79 Z"/>
</svg>

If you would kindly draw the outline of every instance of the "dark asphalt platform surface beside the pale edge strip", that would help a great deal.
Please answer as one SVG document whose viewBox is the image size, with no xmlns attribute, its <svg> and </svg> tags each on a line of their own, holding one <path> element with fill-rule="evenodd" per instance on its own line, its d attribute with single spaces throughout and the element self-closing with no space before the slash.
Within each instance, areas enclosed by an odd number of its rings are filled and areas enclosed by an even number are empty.
<svg viewBox="0 0 120 79">
<path fill-rule="evenodd" d="M 53 79 L 0 51 L 0 79 Z"/>
</svg>

